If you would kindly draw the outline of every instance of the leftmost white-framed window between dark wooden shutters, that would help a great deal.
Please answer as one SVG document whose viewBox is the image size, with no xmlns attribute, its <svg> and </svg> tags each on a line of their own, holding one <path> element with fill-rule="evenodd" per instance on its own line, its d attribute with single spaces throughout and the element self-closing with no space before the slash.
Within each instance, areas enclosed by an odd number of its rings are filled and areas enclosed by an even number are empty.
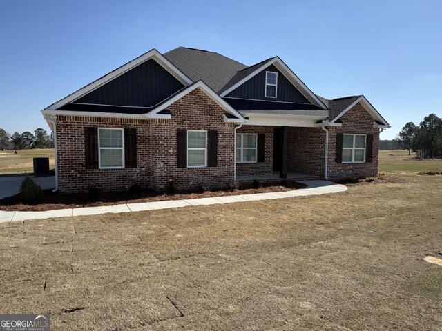
<svg viewBox="0 0 442 331">
<path fill-rule="evenodd" d="M 99 168 L 124 168 L 123 129 L 98 129 Z"/>
</svg>

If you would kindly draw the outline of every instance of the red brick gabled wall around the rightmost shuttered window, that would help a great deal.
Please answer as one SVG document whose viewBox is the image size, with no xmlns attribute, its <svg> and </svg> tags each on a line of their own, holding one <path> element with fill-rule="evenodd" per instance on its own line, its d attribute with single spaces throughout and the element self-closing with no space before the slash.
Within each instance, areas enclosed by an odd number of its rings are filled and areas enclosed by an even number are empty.
<svg viewBox="0 0 442 331">
<path fill-rule="evenodd" d="M 365 178 L 378 174 L 379 130 L 373 128 L 373 117 L 358 103 L 340 118 L 342 127 L 329 127 L 329 179 Z M 373 134 L 371 163 L 336 163 L 336 134 Z"/>
</svg>

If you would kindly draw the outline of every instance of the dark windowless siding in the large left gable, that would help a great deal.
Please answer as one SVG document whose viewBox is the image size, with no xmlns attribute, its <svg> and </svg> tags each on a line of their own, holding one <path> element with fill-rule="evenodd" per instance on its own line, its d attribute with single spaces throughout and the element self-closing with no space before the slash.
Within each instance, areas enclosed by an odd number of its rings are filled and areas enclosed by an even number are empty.
<svg viewBox="0 0 442 331">
<path fill-rule="evenodd" d="M 150 107 L 183 87 L 180 81 L 151 59 L 86 94 L 75 103 Z"/>
</svg>

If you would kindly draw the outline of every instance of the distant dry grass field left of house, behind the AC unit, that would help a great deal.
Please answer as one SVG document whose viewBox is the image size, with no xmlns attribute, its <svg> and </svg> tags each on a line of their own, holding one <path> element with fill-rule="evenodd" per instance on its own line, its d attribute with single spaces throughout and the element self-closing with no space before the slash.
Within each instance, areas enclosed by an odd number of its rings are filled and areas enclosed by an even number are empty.
<svg viewBox="0 0 442 331">
<path fill-rule="evenodd" d="M 25 174 L 32 173 L 33 158 L 48 157 L 49 168 L 55 168 L 54 149 L 48 148 L 43 150 L 17 150 L 14 155 L 13 150 L 0 150 L 0 174 Z"/>
</svg>

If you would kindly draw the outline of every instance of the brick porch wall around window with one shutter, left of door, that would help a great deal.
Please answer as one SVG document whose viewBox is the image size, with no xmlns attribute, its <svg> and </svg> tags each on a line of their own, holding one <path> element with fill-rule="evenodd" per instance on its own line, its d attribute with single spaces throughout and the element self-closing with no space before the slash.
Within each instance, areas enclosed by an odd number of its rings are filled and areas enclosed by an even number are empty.
<svg viewBox="0 0 442 331">
<path fill-rule="evenodd" d="M 236 133 L 265 134 L 265 161 L 236 163 L 236 176 L 258 176 L 273 172 L 273 126 L 242 126 Z"/>
</svg>

